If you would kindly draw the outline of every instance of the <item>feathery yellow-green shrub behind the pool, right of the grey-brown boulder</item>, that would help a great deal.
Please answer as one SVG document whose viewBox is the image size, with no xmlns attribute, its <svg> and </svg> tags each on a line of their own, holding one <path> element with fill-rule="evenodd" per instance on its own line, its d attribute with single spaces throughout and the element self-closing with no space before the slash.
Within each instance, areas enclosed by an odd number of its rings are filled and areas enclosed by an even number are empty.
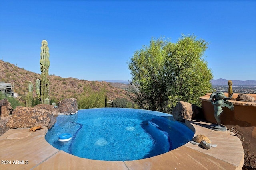
<svg viewBox="0 0 256 170">
<path fill-rule="evenodd" d="M 84 93 L 78 96 L 78 109 L 90 109 L 105 107 L 106 90 L 92 91 L 90 86 L 84 87 Z"/>
</svg>

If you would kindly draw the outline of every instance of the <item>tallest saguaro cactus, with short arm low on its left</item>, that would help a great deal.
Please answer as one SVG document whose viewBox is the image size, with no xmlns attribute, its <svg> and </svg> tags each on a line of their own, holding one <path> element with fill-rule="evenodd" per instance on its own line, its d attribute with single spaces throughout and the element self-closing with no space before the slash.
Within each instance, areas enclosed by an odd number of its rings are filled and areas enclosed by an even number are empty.
<svg viewBox="0 0 256 170">
<path fill-rule="evenodd" d="M 41 80 L 36 80 L 36 95 L 41 103 L 44 104 L 45 99 L 50 100 L 49 95 L 49 48 L 46 40 L 42 41 L 41 54 L 40 54 L 40 69 L 41 69 Z"/>
</svg>

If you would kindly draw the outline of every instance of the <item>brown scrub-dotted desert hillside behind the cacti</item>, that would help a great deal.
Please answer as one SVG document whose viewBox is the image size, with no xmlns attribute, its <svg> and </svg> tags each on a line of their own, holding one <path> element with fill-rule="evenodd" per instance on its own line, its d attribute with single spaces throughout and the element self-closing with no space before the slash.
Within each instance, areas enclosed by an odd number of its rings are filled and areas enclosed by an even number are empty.
<svg viewBox="0 0 256 170">
<path fill-rule="evenodd" d="M 39 65 L 38 65 L 39 66 Z M 40 74 L 19 68 L 9 62 L 0 60 L 0 81 L 14 84 L 15 92 L 22 98 L 28 91 L 28 82 L 34 85 L 34 97 L 36 79 L 40 79 Z M 50 75 L 50 98 L 60 101 L 64 98 L 77 97 L 84 92 L 84 87 L 90 87 L 93 91 L 102 88 L 106 90 L 108 100 L 117 97 L 125 97 L 126 91 L 115 88 L 108 82 L 79 80 L 77 78 L 62 78 L 60 76 Z"/>
</svg>

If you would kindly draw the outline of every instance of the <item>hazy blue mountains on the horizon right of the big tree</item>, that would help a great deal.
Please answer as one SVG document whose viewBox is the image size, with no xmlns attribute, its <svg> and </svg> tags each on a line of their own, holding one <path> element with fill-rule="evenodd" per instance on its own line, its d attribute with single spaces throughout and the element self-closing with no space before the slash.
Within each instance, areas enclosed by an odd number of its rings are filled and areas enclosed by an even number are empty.
<svg viewBox="0 0 256 170">
<path fill-rule="evenodd" d="M 233 86 L 256 86 L 256 80 L 231 80 L 233 83 Z M 211 80 L 212 86 L 216 85 L 226 85 L 228 86 L 228 80 L 219 78 L 217 80 Z"/>
</svg>

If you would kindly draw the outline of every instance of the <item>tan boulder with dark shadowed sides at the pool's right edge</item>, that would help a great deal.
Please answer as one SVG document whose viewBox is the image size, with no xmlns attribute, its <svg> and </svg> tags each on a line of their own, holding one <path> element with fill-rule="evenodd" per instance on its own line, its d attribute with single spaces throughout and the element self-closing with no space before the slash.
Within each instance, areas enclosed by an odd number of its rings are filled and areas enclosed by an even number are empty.
<svg viewBox="0 0 256 170">
<path fill-rule="evenodd" d="M 172 110 L 172 116 L 175 120 L 184 122 L 186 120 L 191 120 L 194 117 L 202 113 L 201 108 L 190 104 L 188 102 L 180 101 Z"/>
</svg>

